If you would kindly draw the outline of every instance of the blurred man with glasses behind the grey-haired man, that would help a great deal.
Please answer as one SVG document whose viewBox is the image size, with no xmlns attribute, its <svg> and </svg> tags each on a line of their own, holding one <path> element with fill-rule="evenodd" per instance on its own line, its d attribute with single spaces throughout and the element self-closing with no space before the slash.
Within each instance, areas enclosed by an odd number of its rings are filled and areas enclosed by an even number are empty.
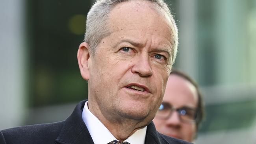
<svg viewBox="0 0 256 144">
<path fill-rule="evenodd" d="M 153 122 L 156 129 L 170 137 L 192 142 L 203 117 L 202 95 L 189 76 L 173 70 L 165 95 Z"/>
</svg>

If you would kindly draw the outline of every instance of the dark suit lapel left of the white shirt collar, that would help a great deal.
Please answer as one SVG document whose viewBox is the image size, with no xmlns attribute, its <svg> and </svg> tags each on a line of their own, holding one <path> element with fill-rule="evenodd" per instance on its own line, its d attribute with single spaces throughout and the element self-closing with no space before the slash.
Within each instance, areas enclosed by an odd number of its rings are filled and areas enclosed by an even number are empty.
<svg viewBox="0 0 256 144">
<path fill-rule="evenodd" d="M 82 119 L 83 106 L 87 100 L 83 100 L 67 118 L 63 128 L 55 140 L 57 144 L 94 144 L 91 135 Z"/>
</svg>

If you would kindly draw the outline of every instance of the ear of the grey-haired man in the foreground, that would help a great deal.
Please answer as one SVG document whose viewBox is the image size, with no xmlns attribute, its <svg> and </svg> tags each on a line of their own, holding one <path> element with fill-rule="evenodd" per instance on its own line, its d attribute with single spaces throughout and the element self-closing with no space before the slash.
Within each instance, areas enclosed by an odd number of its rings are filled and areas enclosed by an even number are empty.
<svg viewBox="0 0 256 144">
<path fill-rule="evenodd" d="M 89 80 L 90 72 L 89 72 L 89 64 L 88 61 L 90 60 L 89 54 L 89 44 L 86 42 L 82 42 L 79 46 L 77 52 L 77 60 L 78 65 L 80 68 L 80 73 L 85 80 Z"/>
</svg>

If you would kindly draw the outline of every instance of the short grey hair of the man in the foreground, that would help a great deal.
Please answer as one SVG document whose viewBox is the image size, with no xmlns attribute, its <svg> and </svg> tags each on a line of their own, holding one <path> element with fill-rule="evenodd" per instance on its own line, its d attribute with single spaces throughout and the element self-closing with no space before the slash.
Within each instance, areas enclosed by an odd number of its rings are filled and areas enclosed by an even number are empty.
<svg viewBox="0 0 256 144">
<path fill-rule="evenodd" d="M 109 35 L 111 32 L 108 28 L 108 15 L 110 11 L 119 3 L 130 0 L 97 0 L 91 7 L 87 14 L 86 20 L 86 32 L 84 36 L 84 42 L 90 45 L 89 51 L 92 55 L 95 54 L 95 49 L 100 41 Z M 178 47 L 178 28 L 175 20 L 167 4 L 163 0 L 147 0 L 154 4 L 157 4 L 163 10 L 163 14 L 167 16 L 167 20 L 171 26 L 171 52 L 172 52 L 172 65 L 174 64 L 177 47 Z"/>
</svg>

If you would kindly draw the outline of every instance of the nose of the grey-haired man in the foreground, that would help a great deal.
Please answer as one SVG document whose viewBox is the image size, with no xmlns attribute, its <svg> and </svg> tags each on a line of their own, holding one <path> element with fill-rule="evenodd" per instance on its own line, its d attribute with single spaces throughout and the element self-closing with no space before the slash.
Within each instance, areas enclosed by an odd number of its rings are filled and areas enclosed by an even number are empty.
<svg viewBox="0 0 256 144">
<path fill-rule="evenodd" d="M 141 77 L 150 77 L 152 75 L 150 58 L 148 56 L 138 55 L 134 66 L 132 66 L 132 73 L 137 73 Z"/>
</svg>

